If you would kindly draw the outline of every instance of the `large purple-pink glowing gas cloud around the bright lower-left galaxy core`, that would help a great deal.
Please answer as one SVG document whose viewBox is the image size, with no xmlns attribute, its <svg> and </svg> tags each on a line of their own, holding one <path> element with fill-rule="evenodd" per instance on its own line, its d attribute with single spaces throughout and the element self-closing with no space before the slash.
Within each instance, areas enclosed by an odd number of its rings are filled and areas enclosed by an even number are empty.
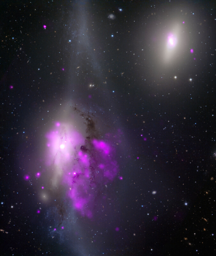
<svg viewBox="0 0 216 256">
<path fill-rule="evenodd" d="M 75 129 L 69 124 L 55 123 L 46 134 L 45 162 L 52 173 L 53 187 L 64 185 L 73 208 L 92 218 L 101 191 L 119 170 L 111 143 L 93 136 L 84 138 Z"/>
</svg>

